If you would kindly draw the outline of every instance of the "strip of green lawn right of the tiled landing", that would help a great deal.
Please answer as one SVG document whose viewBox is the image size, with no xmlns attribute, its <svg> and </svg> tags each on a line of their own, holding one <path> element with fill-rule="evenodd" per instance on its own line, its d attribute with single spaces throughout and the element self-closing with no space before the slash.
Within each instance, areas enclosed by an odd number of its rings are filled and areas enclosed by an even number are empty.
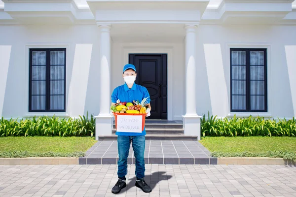
<svg viewBox="0 0 296 197">
<path fill-rule="evenodd" d="M 215 157 L 281 157 L 296 161 L 296 137 L 209 137 L 200 140 Z"/>
</svg>

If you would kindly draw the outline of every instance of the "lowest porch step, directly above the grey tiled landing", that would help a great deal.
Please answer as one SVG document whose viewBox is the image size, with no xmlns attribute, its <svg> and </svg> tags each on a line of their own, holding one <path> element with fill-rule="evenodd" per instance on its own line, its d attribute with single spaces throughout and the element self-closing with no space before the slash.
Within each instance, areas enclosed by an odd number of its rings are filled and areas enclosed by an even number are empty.
<svg viewBox="0 0 296 197">
<path fill-rule="evenodd" d="M 117 135 L 99 135 L 99 141 L 102 140 L 117 140 Z M 183 140 L 197 141 L 197 136 L 187 136 L 184 134 L 146 134 L 146 140 Z"/>
</svg>

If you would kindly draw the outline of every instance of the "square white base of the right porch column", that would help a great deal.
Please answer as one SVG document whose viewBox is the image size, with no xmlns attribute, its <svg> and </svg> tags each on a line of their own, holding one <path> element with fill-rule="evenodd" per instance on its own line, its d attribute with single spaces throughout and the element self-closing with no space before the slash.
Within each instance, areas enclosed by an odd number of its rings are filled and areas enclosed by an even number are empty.
<svg viewBox="0 0 296 197">
<path fill-rule="evenodd" d="M 185 114 L 183 117 L 184 134 L 196 136 L 200 140 L 200 118 L 197 114 Z"/>
</svg>

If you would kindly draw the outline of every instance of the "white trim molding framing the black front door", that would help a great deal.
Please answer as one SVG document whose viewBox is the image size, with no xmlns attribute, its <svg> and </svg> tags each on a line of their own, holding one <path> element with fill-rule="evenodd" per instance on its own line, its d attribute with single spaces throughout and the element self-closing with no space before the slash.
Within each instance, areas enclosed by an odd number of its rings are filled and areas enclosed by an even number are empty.
<svg viewBox="0 0 296 197">
<path fill-rule="evenodd" d="M 123 65 L 128 64 L 128 55 L 130 53 L 146 53 L 146 54 L 157 54 L 164 53 L 168 55 L 167 66 L 168 66 L 168 120 L 173 120 L 173 56 L 174 47 L 123 47 Z"/>
</svg>

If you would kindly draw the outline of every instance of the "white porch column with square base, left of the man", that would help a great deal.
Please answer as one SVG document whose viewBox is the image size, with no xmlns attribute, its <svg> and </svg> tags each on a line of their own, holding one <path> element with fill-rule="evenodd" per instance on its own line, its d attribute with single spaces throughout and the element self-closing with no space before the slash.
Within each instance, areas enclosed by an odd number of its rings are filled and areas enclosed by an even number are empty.
<svg viewBox="0 0 296 197">
<path fill-rule="evenodd" d="M 100 30 L 100 113 L 96 118 L 96 140 L 99 135 L 111 135 L 111 36 L 110 25 L 98 25 Z"/>
</svg>

